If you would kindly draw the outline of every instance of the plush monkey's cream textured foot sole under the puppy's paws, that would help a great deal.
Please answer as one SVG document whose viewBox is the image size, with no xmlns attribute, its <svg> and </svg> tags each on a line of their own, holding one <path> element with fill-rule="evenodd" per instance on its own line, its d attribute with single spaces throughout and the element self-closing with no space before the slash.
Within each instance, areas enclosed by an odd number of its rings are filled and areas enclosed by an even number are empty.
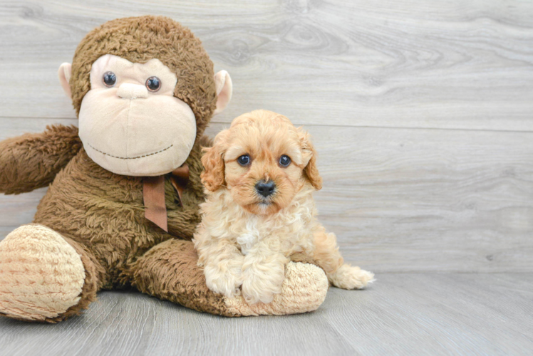
<svg viewBox="0 0 533 356">
<path fill-rule="evenodd" d="M 271 303 L 249 305 L 242 296 L 224 297 L 228 311 L 235 315 L 285 315 L 307 313 L 319 308 L 326 298 L 328 278 L 322 268 L 310 263 L 289 262 L 281 293 Z"/>
</svg>

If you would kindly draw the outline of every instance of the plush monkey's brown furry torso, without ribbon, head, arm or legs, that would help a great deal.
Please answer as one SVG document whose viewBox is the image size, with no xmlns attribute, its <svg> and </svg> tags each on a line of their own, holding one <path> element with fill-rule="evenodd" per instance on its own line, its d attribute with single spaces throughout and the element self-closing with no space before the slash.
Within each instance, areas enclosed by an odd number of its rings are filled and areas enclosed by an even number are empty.
<svg viewBox="0 0 533 356">
<path fill-rule="evenodd" d="M 113 174 L 95 164 L 83 149 L 56 176 L 34 222 L 88 246 L 105 271 L 99 278 L 100 288 L 124 288 L 138 256 L 176 236 L 191 239 L 203 199 L 202 190 L 195 189 L 201 187 L 199 163 L 200 145 L 196 145 L 187 159 L 190 187 L 183 192 L 183 206 L 169 177 L 165 179 L 169 234 L 145 219 L 141 177 Z"/>
</svg>

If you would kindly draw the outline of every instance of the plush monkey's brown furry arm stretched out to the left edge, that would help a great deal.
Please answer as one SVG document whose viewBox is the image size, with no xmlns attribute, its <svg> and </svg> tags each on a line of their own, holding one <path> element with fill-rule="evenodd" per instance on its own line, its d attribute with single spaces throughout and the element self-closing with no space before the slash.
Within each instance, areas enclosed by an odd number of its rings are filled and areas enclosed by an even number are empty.
<svg viewBox="0 0 533 356">
<path fill-rule="evenodd" d="M 78 128 L 63 125 L 0 142 L 0 193 L 46 187 L 81 147 Z"/>
</svg>

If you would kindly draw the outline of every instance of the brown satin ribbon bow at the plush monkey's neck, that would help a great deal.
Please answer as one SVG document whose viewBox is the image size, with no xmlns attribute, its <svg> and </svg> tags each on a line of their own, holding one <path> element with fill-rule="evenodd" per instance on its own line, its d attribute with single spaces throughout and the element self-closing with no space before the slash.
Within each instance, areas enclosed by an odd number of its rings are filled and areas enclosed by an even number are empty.
<svg viewBox="0 0 533 356">
<path fill-rule="evenodd" d="M 183 189 L 189 182 L 189 166 L 182 164 L 174 169 L 170 182 L 177 191 L 182 203 Z M 143 178 L 143 199 L 145 204 L 145 218 L 152 221 L 161 229 L 168 232 L 167 206 L 165 205 L 165 176 Z"/>
</svg>

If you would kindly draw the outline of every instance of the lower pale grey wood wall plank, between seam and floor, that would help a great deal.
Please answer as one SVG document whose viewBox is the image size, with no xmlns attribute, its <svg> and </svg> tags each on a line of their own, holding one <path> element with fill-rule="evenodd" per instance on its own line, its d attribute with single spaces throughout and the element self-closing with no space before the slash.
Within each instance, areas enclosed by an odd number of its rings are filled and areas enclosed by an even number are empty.
<svg viewBox="0 0 533 356">
<path fill-rule="evenodd" d="M 10 134 L 25 121 L 0 119 Z M 306 128 L 324 178 L 320 219 L 346 261 L 378 273 L 533 271 L 532 132 Z M 44 192 L 0 196 L 1 237 L 31 221 Z"/>
</svg>

